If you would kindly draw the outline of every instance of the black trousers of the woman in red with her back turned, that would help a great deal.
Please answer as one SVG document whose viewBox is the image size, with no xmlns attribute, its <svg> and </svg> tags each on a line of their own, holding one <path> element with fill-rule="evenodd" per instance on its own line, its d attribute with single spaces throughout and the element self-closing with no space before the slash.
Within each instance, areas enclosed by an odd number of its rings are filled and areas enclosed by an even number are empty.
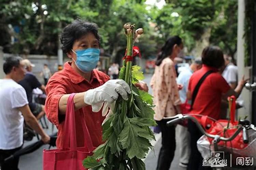
<svg viewBox="0 0 256 170">
<path fill-rule="evenodd" d="M 197 140 L 203 135 L 196 123 L 188 120 L 188 131 L 190 133 L 190 157 L 187 170 L 211 170 L 211 167 L 203 167 L 203 157 L 197 149 Z"/>
</svg>

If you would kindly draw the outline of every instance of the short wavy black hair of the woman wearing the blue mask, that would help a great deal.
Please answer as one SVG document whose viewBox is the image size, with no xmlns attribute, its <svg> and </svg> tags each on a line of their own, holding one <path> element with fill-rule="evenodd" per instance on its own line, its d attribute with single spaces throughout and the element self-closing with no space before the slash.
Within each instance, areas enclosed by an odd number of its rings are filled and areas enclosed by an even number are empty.
<svg viewBox="0 0 256 170">
<path fill-rule="evenodd" d="M 63 52 L 69 52 L 74 42 L 87 33 L 93 33 L 100 43 L 100 35 L 98 34 L 98 26 L 96 23 L 76 19 L 66 26 L 60 37 Z"/>
</svg>

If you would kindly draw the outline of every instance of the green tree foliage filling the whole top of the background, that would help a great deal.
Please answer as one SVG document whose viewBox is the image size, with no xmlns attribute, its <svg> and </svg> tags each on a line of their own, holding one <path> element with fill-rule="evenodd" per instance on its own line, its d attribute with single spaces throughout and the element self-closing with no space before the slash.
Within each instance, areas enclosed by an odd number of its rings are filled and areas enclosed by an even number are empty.
<svg viewBox="0 0 256 170">
<path fill-rule="evenodd" d="M 236 52 L 237 1 L 166 0 L 159 9 L 145 0 L 2 0 L 0 46 L 4 52 L 57 55 L 61 30 L 76 18 L 99 26 L 101 48 L 112 61 L 125 51 L 124 23 L 144 28 L 137 40 L 143 57 L 154 56 L 171 35 L 180 35 L 188 53 L 195 50 L 210 30 L 208 44 L 225 53 Z M 176 14 L 176 15 L 175 15 Z M 178 16 L 177 16 L 178 14 Z"/>
</svg>

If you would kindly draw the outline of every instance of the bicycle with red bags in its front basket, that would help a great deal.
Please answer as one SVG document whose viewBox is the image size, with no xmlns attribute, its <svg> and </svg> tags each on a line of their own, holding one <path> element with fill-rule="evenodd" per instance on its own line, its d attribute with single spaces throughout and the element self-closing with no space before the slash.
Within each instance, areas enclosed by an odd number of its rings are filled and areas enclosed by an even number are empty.
<svg viewBox="0 0 256 170">
<path fill-rule="evenodd" d="M 193 122 L 196 123 L 198 129 L 202 132 L 202 134 L 204 134 L 197 142 L 198 148 L 201 147 L 201 149 L 199 149 L 199 152 L 201 153 L 202 157 L 204 158 L 204 160 L 206 160 L 206 162 L 208 161 L 208 163 L 213 163 L 219 157 L 216 157 L 216 154 L 218 154 L 217 156 L 220 156 L 220 153 L 223 153 L 223 158 L 225 156 L 225 158 L 230 156 L 230 164 L 227 165 L 223 164 L 221 166 L 215 166 L 215 165 L 210 165 L 211 167 L 218 167 L 218 168 L 222 168 L 222 169 L 234 169 L 234 168 L 244 168 L 241 165 L 237 165 L 238 163 L 236 162 L 236 165 L 232 165 L 231 163 L 234 163 L 234 161 L 237 161 L 237 158 L 242 158 L 242 157 L 251 157 L 254 162 L 256 162 L 256 127 L 250 123 L 250 121 L 248 120 L 239 120 L 238 125 L 233 126 L 233 134 L 231 136 L 228 137 L 224 137 L 221 136 L 220 134 L 210 134 L 207 131 L 207 129 L 211 128 L 209 127 L 209 125 L 211 124 L 205 124 L 205 126 L 203 127 L 197 118 L 195 118 L 195 115 L 193 114 L 178 114 L 176 116 L 173 117 L 166 117 L 165 119 L 169 120 L 167 122 L 168 126 L 177 124 L 177 123 L 181 123 L 182 121 L 185 120 L 191 120 Z M 199 115 L 202 116 L 202 115 Z M 235 131 L 234 131 L 235 130 Z M 223 133 L 225 134 L 225 132 Z M 237 149 L 237 148 L 233 148 L 231 145 L 231 142 L 235 139 L 235 138 L 239 138 L 239 135 L 242 136 L 242 141 L 245 144 L 245 148 L 243 149 Z M 210 140 L 212 140 L 213 143 L 213 147 L 212 144 L 210 142 Z M 220 142 L 222 141 L 222 145 L 218 145 L 220 144 Z M 201 142 L 201 143 L 200 143 Z M 227 142 L 230 142 L 231 147 L 227 146 Z M 204 144 L 202 144 L 204 143 Z M 205 143 L 207 143 L 206 147 L 204 146 Z M 209 146 L 208 146 L 209 145 Z M 206 152 L 206 150 L 208 150 L 208 152 Z M 212 154 L 213 153 L 213 154 Z M 212 155 L 211 155 L 212 154 Z M 233 155 L 233 156 L 232 156 Z M 219 160 L 219 159 L 218 159 Z M 249 168 L 253 169 L 255 168 L 255 163 L 253 162 L 253 165 Z"/>
</svg>

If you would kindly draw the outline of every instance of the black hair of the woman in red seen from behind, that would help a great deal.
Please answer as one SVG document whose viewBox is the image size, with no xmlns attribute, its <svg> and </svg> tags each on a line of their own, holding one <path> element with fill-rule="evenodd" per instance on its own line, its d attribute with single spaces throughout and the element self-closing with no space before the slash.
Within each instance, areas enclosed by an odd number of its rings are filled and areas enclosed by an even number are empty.
<svg viewBox="0 0 256 170">
<path fill-rule="evenodd" d="M 225 63 L 222 50 L 217 46 L 205 47 L 202 52 L 202 63 L 210 67 L 221 68 Z"/>
</svg>

